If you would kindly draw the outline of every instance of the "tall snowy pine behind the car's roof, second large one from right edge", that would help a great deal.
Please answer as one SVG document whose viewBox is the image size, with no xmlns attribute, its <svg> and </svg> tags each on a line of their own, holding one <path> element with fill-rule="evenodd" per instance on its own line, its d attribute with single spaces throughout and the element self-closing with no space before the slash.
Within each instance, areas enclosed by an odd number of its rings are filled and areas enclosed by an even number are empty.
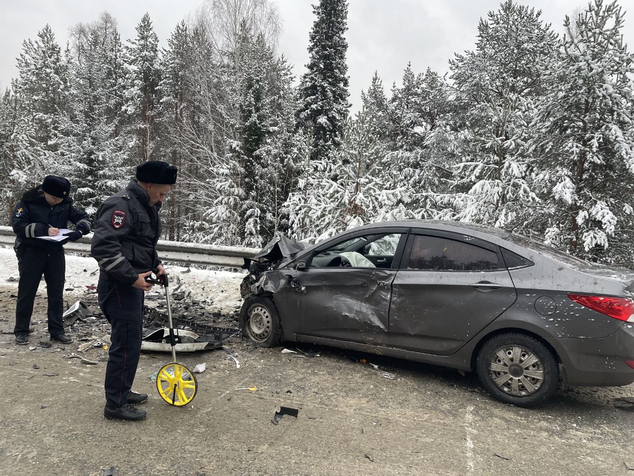
<svg viewBox="0 0 634 476">
<path fill-rule="evenodd" d="M 505 1 L 480 20 L 475 51 L 451 61 L 459 109 L 450 145 L 460 163 L 456 193 L 444 198 L 453 218 L 508 227 L 534 216 L 538 197 L 526 143 L 534 101 L 545 92 L 543 65 L 556 46 L 540 16 Z"/>
</svg>

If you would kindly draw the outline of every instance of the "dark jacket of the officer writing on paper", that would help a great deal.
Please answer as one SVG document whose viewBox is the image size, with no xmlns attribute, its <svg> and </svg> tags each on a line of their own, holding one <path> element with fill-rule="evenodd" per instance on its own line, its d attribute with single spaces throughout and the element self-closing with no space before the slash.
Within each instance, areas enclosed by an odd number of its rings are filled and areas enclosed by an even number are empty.
<svg viewBox="0 0 634 476">
<path fill-rule="evenodd" d="M 50 206 L 39 187 L 27 190 L 11 215 L 11 226 L 16 234 L 16 251 L 20 246 L 41 249 L 61 247 L 59 242 L 41 240 L 37 237 L 48 236 L 48 228 L 50 227 L 68 227 L 68 221 L 72 221 L 77 230 L 84 235 L 90 231 L 88 215 L 75 208 L 69 197 L 57 205 Z"/>
</svg>

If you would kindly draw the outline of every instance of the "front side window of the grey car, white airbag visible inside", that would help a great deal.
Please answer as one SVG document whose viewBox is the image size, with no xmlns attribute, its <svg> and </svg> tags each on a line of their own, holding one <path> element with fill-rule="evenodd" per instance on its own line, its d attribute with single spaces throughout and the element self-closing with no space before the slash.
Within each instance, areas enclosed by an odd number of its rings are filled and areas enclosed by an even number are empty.
<svg viewBox="0 0 634 476">
<path fill-rule="evenodd" d="M 316 253 L 311 268 L 391 268 L 401 235 L 383 233 L 346 239 Z"/>
</svg>

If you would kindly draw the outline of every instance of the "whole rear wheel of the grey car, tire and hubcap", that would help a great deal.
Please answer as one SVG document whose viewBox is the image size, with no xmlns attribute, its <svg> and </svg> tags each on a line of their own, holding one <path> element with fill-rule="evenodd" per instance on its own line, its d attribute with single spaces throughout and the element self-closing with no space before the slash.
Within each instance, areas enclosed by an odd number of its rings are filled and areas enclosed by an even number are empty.
<svg viewBox="0 0 634 476">
<path fill-rule="evenodd" d="M 539 405 L 559 387 L 555 355 L 526 334 L 500 334 L 486 341 L 478 352 L 475 369 L 487 392 L 518 407 Z"/>
</svg>

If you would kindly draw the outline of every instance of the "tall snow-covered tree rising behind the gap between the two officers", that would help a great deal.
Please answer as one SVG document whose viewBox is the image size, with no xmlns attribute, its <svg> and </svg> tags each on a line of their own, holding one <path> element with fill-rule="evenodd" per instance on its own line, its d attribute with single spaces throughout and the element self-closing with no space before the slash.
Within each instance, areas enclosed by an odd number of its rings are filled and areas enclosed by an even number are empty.
<svg viewBox="0 0 634 476">
<path fill-rule="evenodd" d="M 67 176 L 76 186 L 79 206 L 91 215 L 101 201 L 124 185 L 129 175 L 118 136 L 122 104 L 120 41 L 117 23 L 104 12 L 99 20 L 71 29 L 70 98 L 63 139 Z"/>
</svg>

